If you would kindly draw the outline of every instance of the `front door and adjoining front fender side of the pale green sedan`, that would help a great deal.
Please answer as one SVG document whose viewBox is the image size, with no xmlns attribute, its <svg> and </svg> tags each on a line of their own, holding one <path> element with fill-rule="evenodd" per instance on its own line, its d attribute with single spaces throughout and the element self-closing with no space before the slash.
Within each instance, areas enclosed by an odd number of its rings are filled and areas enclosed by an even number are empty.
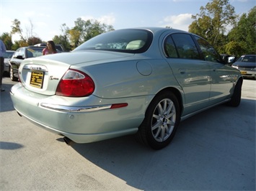
<svg viewBox="0 0 256 191">
<path fill-rule="evenodd" d="M 214 50 L 214 48 L 206 42 L 205 39 L 201 37 L 194 36 L 196 42 L 200 47 L 201 52 L 203 53 L 204 59 L 208 62 L 208 65 L 211 67 L 211 93 L 210 93 L 210 103 L 219 103 L 224 101 L 226 95 L 229 95 L 231 88 L 233 88 L 235 78 L 234 72 L 231 70 L 231 67 L 225 65 L 224 62 L 221 62 L 221 57 Z"/>
</svg>

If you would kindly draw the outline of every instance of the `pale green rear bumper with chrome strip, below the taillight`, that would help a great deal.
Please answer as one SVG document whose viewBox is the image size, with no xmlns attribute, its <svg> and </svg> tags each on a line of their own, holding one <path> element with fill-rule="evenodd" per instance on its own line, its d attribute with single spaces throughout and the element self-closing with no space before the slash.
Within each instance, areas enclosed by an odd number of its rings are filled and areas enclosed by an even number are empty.
<svg viewBox="0 0 256 191">
<path fill-rule="evenodd" d="M 142 97 L 118 99 L 118 101 L 128 103 L 125 108 L 110 109 L 111 100 L 95 96 L 80 101 L 82 107 L 66 106 L 71 101 L 74 103 L 74 98 L 31 93 L 17 83 L 12 87 L 11 98 L 17 112 L 33 124 L 66 136 L 77 143 L 89 143 L 134 134 L 144 119 L 144 108 L 138 105 L 138 103 L 143 103 Z M 117 100 L 112 100 L 114 101 Z M 52 106 L 58 106 L 58 108 L 62 106 L 65 109 L 54 109 Z M 76 111 L 69 108 L 86 109 Z"/>
</svg>

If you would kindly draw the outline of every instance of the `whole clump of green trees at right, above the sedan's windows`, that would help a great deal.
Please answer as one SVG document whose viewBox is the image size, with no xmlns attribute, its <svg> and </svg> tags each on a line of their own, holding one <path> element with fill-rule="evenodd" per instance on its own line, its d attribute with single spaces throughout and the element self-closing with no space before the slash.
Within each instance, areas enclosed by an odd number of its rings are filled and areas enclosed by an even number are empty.
<svg viewBox="0 0 256 191">
<path fill-rule="evenodd" d="M 205 7 L 201 6 L 200 14 L 193 15 L 192 19 L 189 32 L 207 39 L 219 53 L 255 55 L 256 6 L 239 17 L 229 0 L 213 0 Z M 226 34 L 228 27 L 232 28 Z"/>
</svg>

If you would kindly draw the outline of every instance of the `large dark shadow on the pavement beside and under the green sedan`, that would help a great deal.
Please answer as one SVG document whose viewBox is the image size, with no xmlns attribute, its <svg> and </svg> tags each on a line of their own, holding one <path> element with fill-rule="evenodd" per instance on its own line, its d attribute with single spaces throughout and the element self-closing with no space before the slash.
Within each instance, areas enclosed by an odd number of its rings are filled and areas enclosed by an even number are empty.
<svg viewBox="0 0 256 191">
<path fill-rule="evenodd" d="M 251 121 L 239 121 L 241 116 Z M 175 139 L 162 150 L 149 149 L 133 135 L 71 146 L 139 190 L 250 190 L 254 185 L 247 183 L 252 181 L 255 166 L 243 169 L 250 172 L 242 177 L 239 165 L 255 157 L 255 134 L 244 128 L 244 124 L 251 128 L 254 120 L 255 101 L 242 99 L 237 108 L 216 106 L 182 121 Z M 236 123 L 241 124 L 235 128 Z M 240 139 L 248 140 L 247 145 L 239 145 Z M 247 146 L 252 152 L 245 152 Z M 234 162 L 235 153 L 241 154 L 236 156 L 238 162 Z"/>
</svg>

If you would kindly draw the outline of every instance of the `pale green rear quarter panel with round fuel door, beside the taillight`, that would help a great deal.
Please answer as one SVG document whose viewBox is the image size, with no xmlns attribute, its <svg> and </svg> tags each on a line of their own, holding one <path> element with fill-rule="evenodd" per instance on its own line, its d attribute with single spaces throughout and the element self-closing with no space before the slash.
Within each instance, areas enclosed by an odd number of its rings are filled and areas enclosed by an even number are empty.
<svg viewBox="0 0 256 191">
<path fill-rule="evenodd" d="M 139 63 L 147 65 L 143 73 Z M 180 88 L 172 70 L 164 60 L 126 60 L 82 67 L 95 83 L 94 95 L 100 98 L 125 98 L 156 95 L 168 87 Z M 80 69 L 81 70 L 81 69 Z M 150 71 L 149 71 L 150 70 Z"/>
</svg>

